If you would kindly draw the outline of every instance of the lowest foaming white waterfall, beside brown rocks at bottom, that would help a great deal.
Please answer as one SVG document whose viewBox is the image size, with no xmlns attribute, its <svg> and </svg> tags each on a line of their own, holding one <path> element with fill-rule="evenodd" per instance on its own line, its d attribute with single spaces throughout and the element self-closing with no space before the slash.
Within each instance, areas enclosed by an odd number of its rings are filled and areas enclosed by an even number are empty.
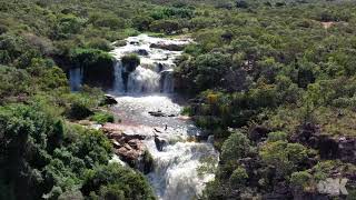
<svg viewBox="0 0 356 200">
<path fill-rule="evenodd" d="M 147 141 L 155 160 L 155 171 L 148 174 L 157 190 L 159 199 L 189 200 L 201 194 L 205 183 L 214 174 L 199 174 L 202 159 L 217 157 L 214 147 L 206 143 L 177 142 L 162 151 L 155 149 L 152 141 Z"/>
</svg>

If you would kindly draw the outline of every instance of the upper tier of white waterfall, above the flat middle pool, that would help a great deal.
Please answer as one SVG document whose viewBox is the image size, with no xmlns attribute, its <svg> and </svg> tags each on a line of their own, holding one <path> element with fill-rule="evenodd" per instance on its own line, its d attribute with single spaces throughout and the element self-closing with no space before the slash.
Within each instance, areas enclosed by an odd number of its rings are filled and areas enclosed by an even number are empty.
<svg viewBox="0 0 356 200">
<path fill-rule="evenodd" d="M 127 39 L 127 44 L 111 53 L 117 58 L 115 67 L 115 93 L 171 93 L 174 92 L 175 60 L 181 51 L 152 48 L 157 43 L 187 44 L 187 40 L 167 40 L 140 34 Z M 126 72 L 120 59 L 129 53 L 137 53 L 140 66 L 132 72 Z"/>
</svg>

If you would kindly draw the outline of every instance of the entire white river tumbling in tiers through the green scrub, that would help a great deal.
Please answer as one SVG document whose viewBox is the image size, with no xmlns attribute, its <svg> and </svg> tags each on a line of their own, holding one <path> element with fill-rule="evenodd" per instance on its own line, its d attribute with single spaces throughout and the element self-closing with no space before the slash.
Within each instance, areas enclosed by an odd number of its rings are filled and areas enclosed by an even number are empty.
<svg viewBox="0 0 356 200">
<path fill-rule="evenodd" d="M 200 130 L 180 116 L 182 107 L 174 93 L 172 72 L 174 61 L 181 52 L 157 48 L 157 44 L 181 46 L 188 42 L 191 41 L 140 34 L 128 38 L 126 46 L 111 52 L 117 63 L 110 93 L 118 101 L 112 110 L 121 119 L 125 133 L 148 136 L 145 144 L 154 158 L 154 171 L 147 177 L 161 200 L 191 200 L 201 194 L 205 183 L 214 179 L 214 173 L 198 169 L 202 160 L 209 160 L 210 166 L 216 166 L 218 160 L 211 143 L 191 141 Z M 120 59 L 132 52 L 139 54 L 141 63 L 123 81 L 125 67 Z M 72 73 L 76 79 L 81 79 L 80 71 Z M 164 114 L 154 117 L 149 112 Z M 157 149 L 154 136 L 166 141 L 162 149 Z"/>
</svg>

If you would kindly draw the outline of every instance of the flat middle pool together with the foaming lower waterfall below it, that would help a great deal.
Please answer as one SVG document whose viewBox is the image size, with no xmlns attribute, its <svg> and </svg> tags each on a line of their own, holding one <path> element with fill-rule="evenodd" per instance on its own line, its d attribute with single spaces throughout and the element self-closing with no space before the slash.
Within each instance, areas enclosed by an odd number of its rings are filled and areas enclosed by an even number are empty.
<svg viewBox="0 0 356 200">
<path fill-rule="evenodd" d="M 190 200 L 200 196 L 214 173 L 200 174 L 198 169 L 207 159 L 217 166 L 218 152 L 210 142 L 187 141 L 200 130 L 178 116 L 181 107 L 168 96 L 121 96 L 116 100 L 113 111 L 120 116 L 121 130 L 126 134 L 147 136 L 145 144 L 154 158 L 154 171 L 147 177 L 158 198 Z M 152 110 L 177 117 L 156 118 L 148 113 Z M 157 149 L 155 134 L 167 141 L 161 151 Z"/>
</svg>

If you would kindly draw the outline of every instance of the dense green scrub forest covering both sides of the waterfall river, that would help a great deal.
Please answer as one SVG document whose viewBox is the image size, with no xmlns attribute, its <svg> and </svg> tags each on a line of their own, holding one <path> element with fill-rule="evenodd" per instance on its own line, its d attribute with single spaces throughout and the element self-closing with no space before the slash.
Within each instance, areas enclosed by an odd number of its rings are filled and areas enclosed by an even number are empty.
<svg viewBox="0 0 356 200">
<path fill-rule="evenodd" d="M 110 141 L 76 124 L 113 121 L 101 79 L 70 92 L 66 72 L 108 70 L 129 36 L 191 37 L 177 61 L 185 113 L 215 136 L 201 199 L 356 196 L 356 2 L 342 0 L 0 0 L 0 199 L 155 199 L 109 163 Z M 136 58 L 128 58 L 137 62 Z M 100 67 L 100 68 L 99 68 Z M 208 164 L 208 163 L 207 163 Z"/>
</svg>

